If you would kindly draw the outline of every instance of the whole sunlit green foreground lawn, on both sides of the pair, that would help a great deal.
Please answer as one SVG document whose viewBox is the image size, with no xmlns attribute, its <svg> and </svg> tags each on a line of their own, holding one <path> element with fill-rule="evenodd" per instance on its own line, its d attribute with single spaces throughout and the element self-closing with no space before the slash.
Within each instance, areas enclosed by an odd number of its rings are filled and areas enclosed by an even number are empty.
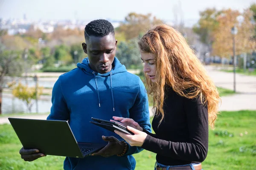
<svg viewBox="0 0 256 170">
<path fill-rule="evenodd" d="M 209 130 L 209 151 L 204 170 L 255 170 L 256 111 L 223 111 Z M 32 162 L 20 159 L 21 144 L 11 125 L 0 125 L 0 170 L 61 170 L 64 157 L 46 156 Z M 152 170 L 155 153 L 134 154 L 136 170 Z"/>
</svg>

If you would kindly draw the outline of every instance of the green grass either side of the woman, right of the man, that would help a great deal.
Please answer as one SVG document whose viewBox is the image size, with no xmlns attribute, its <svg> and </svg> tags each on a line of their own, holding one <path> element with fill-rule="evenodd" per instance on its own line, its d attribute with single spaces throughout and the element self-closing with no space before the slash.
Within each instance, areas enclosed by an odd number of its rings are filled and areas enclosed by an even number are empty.
<svg viewBox="0 0 256 170">
<path fill-rule="evenodd" d="M 247 134 L 246 134 L 247 133 Z M 204 170 L 256 170 L 256 111 L 223 111 L 209 130 L 209 151 Z M 134 154 L 137 170 L 153 169 L 155 155 Z"/>
</svg>

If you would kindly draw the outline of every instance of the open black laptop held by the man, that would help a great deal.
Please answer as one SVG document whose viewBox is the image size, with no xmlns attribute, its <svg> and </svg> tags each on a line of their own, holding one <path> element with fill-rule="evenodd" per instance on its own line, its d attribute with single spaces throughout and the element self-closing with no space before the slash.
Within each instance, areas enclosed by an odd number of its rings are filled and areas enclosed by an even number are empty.
<svg viewBox="0 0 256 170">
<path fill-rule="evenodd" d="M 77 142 L 67 121 L 8 119 L 25 149 L 46 155 L 84 158 L 107 144 Z"/>
</svg>

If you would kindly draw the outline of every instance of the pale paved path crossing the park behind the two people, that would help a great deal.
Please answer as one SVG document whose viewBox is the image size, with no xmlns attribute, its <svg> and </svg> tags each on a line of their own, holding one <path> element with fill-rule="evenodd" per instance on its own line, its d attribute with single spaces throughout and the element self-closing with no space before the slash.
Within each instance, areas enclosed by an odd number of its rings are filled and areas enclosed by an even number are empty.
<svg viewBox="0 0 256 170">
<path fill-rule="evenodd" d="M 215 66 L 206 67 L 215 85 L 233 90 L 233 73 L 217 71 Z M 238 94 L 221 97 L 220 111 L 256 110 L 256 77 L 236 75 L 236 91 Z M 149 108 L 150 112 L 152 108 Z M 152 115 L 152 112 L 151 112 Z M 31 119 L 46 119 L 47 115 L 12 116 Z M 0 124 L 9 123 L 8 117 L 0 117 Z"/>
</svg>

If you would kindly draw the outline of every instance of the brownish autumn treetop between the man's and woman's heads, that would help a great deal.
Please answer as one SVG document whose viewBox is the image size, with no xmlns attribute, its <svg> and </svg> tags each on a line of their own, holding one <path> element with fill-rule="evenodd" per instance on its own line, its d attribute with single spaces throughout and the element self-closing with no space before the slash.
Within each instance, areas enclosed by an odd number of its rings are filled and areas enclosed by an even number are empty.
<svg viewBox="0 0 256 170">
<path fill-rule="evenodd" d="M 137 14 L 131 12 L 125 17 L 125 22 L 121 22 L 118 29 L 119 32 L 124 32 L 126 40 L 138 37 L 139 34 L 144 33 L 152 26 L 161 24 L 163 21 L 152 17 L 151 14 Z"/>
</svg>

